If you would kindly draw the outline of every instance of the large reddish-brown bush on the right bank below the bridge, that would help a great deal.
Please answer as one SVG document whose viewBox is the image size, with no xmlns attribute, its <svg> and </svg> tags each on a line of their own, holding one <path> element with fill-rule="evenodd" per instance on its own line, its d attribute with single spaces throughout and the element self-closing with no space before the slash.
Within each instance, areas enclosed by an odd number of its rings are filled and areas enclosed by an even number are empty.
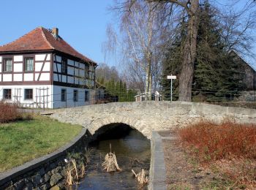
<svg viewBox="0 0 256 190">
<path fill-rule="evenodd" d="M 209 121 L 178 130 L 181 145 L 203 161 L 246 158 L 256 159 L 256 126 Z"/>
</svg>

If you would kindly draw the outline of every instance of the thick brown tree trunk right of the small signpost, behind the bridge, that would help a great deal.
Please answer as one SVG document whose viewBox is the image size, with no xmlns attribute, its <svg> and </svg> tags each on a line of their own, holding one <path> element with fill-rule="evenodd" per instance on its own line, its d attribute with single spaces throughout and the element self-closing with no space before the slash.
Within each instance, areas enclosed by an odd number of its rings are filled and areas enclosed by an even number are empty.
<svg viewBox="0 0 256 190">
<path fill-rule="evenodd" d="M 192 80 L 197 46 L 199 0 L 191 0 L 189 8 L 189 21 L 187 39 L 184 44 L 184 57 L 182 61 L 181 76 L 179 78 L 178 100 L 192 101 Z"/>
</svg>

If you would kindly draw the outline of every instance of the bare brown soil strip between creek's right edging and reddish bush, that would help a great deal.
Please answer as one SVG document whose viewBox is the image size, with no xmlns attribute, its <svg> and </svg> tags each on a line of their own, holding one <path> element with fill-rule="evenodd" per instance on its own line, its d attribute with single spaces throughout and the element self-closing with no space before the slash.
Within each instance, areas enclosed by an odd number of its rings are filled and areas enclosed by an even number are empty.
<svg viewBox="0 0 256 190">
<path fill-rule="evenodd" d="M 165 153 L 167 189 L 227 189 L 231 186 L 233 182 L 219 170 L 201 167 L 186 155 L 177 140 L 173 140 L 175 136 L 159 134 Z"/>
</svg>

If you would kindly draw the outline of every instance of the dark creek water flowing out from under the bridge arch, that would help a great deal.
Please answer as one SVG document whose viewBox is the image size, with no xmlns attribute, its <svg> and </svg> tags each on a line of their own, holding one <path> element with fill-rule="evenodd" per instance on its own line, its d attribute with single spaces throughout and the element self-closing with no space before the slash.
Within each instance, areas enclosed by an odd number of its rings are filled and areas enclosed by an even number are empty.
<svg viewBox="0 0 256 190">
<path fill-rule="evenodd" d="M 108 132 L 89 145 L 86 176 L 77 189 L 138 189 L 132 169 L 138 173 L 143 168 L 148 174 L 151 157 L 150 141 L 135 129 L 123 128 L 125 130 L 115 131 L 115 127 L 112 132 Z M 109 135 L 110 133 L 116 135 Z M 112 152 L 116 153 L 118 165 L 121 167 L 120 172 L 105 172 L 102 169 L 105 155 L 110 152 L 110 144 Z M 147 189 L 147 186 L 140 189 Z"/>
</svg>

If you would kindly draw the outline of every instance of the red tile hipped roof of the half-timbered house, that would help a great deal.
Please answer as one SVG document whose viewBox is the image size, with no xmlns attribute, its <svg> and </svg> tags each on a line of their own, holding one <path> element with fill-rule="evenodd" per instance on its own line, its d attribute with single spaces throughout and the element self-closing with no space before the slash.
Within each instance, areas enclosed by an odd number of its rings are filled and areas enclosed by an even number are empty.
<svg viewBox="0 0 256 190">
<path fill-rule="evenodd" d="M 83 61 L 89 61 L 96 64 L 91 59 L 83 56 L 73 47 L 71 47 L 61 37 L 54 37 L 50 29 L 42 27 L 35 28 L 23 37 L 16 39 L 7 45 L 0 46 L 1 52 L 18 52 L 18 51 L 37 51 L 37 50 L 59 50 L 71 56 L 80 58 Z"/>
</svg>

